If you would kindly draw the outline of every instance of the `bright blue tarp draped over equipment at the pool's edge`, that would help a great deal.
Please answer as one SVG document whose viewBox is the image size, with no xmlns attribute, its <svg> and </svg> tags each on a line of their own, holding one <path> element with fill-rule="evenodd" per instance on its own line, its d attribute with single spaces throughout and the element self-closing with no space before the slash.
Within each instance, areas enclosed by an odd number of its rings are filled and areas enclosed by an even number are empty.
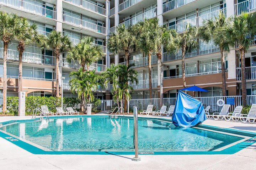
<svg viewBox="0 0 256 170">
<path fill-rule="evenodd" d="M 179 91 L 172 115 L 172 123 L 180 127 L 192 127 L 206 120 L 202 102 Z"/>
</svg>

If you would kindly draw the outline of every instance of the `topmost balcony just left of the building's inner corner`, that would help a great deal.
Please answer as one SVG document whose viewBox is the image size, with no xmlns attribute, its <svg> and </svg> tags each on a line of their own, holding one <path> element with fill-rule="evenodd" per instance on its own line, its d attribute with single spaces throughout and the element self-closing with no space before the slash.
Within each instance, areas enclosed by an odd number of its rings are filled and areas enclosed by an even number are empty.
<svg viewBox="0 0 256 170">
<path fill-rule="evenodd" d="M 102 16 L 105 16 L 106 18 L 106 9 L 105 8 L 102 8 L 100 6 L 97 6 L 95 4 L 92 4 L 91 2 L 89 1 L 86 1 L 86 0 L 64 0 L 66 2 L 69 2 L 70 4 L 73 4 L 75 6 L 78 6 L 78 7 L 81 7 L 89 12 L 94 12 L 96 14 L 99 14 L 99 15 L 102 15 Z M 63 3 L 63 6 L 64 8 L 70 8 L 68 7 L 66 4 Z M 74 9 L 75 12 L 81 12 L 81 9 Z M 89 12 L 86 12 L 86 14 L 89 14 Z M 93 15 L 93 14 L 92 14 Z M 95 15 L 95 14 L 94 14 Z M 91 16 L 90 16 L 91 17 Z M 101 18 L 101 19 L 104 19 L 104 18 Z"/>
</svg>

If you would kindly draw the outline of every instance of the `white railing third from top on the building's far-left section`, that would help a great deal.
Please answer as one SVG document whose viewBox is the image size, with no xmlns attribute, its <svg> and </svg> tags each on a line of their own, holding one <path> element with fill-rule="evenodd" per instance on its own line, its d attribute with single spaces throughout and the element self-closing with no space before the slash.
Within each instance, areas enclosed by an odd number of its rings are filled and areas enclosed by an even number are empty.
<svg viewBox="0 0 256 170">
<path fill-rule="evenodd" d="M 17 50 L 7 50 L 7 60 L 18 61 L 18 51 Z M 0 48 L 0 58 L 3 58 L 4 49 Z M 42 54 L 36 54 L 31 52 L 23 52 L 22 62 L 34 63 L 34 64 L 46 64 L 46 65 L 56 65 L 56 57 L 47 56 Z"/>
</svg>

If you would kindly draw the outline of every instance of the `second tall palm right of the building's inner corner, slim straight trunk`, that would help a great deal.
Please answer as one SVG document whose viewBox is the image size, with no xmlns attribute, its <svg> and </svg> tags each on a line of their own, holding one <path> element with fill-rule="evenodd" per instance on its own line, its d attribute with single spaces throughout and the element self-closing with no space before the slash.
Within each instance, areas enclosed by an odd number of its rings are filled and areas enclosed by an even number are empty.
<svg viewBox="0 0 256 170">
<path fill-rule="evenodd" d="M 148 55 L 148 69 L 149 69 L 149 97 L 152 98 L 152 79 L 151 79 L 151 55 L 158 50 L 156 43 L 156 31 L 154 28 L 158 27 L 158 19 L 151 18 L 140 21 L 135 25 L 137 35 L 136 47 Z"/>
</svg>

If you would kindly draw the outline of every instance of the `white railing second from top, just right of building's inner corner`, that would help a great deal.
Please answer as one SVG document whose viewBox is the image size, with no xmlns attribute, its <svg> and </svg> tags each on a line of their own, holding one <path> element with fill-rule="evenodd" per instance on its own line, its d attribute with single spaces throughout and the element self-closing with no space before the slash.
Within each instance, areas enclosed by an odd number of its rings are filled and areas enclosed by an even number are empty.
<svg viewBox="0 0 256 170">
<path fill-rule="evenodd" d="M 127 28 L 128 26 L 132 26 L 132 25 L 136 24 L 139 21 L 143 21 L 144 19 L 149 19 L 149 18 L 156 17 L 157 16 L 156 11 L 157 11 L 156 8 L 154 8 L 152 10 L 149 10 L 149 11 L 146 11 L 146 12 L 144 12 L 144 13 L 138 15 L 138 16 L 134 16 L 133 18 L 130 18 L 127 21 L 124 21 L 124 22 L 120 23 L 119 25 L 124 24 L 124 26 Z"/>
</svg>

